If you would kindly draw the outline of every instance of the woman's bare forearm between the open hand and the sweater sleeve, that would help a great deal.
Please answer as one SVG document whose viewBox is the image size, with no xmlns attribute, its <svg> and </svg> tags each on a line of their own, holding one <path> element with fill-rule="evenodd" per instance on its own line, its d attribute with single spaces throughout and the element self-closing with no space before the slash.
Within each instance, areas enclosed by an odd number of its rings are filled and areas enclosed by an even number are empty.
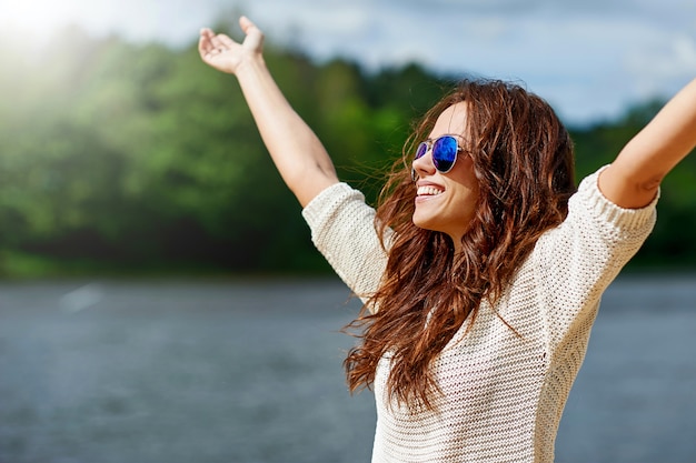
<svg viewBox="0 0 696 463">
<path fill-rule="evenodd" d="M 284 181 L 304 207 L 338 182 L 326 149 L 295 112 L 258 54 L 237 69 L 237 78 L 264 143 Z"/>
</svg>

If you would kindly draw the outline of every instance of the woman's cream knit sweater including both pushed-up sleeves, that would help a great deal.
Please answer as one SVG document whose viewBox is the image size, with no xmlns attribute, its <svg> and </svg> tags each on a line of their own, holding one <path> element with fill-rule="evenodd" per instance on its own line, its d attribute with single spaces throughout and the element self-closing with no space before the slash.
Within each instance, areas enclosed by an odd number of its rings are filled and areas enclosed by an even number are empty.
<svg viewBox="0 0 696 463">
<path fill-rule="evenodd" d="M 435 412 L 389 406 L 382 359 L 372 462 L 553 462 L 599 299 L 650 233 L 656 202 L 622 209 L 601 195 L 597 173 L 585 179 L 565 222 L 539 239 L 495 310 L 483 303 L 471 330 L 463 334 L 466 322 L 436 359 L 444 394 Z M 339 276 L 356 294 L 370 294 L 387 255 L 362 194 L 339 183 L 302 214 Z"/>
</svg>

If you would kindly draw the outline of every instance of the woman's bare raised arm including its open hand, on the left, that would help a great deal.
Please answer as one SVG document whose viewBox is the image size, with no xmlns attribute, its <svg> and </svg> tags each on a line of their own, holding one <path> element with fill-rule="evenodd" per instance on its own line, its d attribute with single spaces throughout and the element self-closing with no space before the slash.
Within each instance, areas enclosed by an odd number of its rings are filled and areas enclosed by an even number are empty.
<svg viewBox="0 0 696 463">
<path fill-rule="evenodd" d="M 198 50 L 207 64 L 237 76 L 266 148 L 284 181 L 305 207 L 321 190 L 338 182 L 334 163 L 266 68 L 261 31 L 245 17 L 239 24 L 246 34 L 242 43 L 202 29 Z"/>
</svg>

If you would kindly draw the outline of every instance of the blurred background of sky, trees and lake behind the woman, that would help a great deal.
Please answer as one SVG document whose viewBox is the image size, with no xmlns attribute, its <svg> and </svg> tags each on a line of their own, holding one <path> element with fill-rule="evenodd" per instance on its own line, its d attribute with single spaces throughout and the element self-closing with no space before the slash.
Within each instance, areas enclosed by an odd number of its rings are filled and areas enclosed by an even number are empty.
<svg viewBox="0 0 696 463">
<path fill-rule="evenodd" d="M 370 201 L 464 76 L 546 98 L 578 180 L 696 76 L 690 0 L 0 0 L 0 462 L 369 459 L 340 370 L 359 304 L 198 58 L 241 13 Z M 692 157 L 607 293 L 558 461 L 696 460 L 694 230 Z"/>
</svg>

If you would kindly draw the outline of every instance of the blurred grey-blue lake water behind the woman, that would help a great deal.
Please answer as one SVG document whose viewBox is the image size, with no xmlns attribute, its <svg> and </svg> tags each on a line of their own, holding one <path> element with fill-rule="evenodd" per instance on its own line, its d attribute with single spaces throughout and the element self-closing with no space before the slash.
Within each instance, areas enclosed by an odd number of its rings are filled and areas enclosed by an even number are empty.
<svg viewBox="0 0 696 463">
<path fill-rule="evenodd" d="M 368 462 L 329 280 L 0 283 L 0 463 Z M 696 462 L 696 276 L 605 295 L 565 463 Z"/>
</svg>

